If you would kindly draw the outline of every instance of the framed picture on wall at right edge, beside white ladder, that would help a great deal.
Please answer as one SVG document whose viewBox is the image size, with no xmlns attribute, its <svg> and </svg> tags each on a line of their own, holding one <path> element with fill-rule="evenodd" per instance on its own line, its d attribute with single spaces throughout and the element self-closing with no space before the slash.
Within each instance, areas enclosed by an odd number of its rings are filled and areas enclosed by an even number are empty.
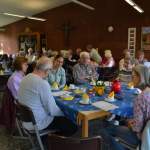
<svg viewBox="0 0 150 150">
<path fill-rule="evenodd" d="M 141 49 L 150 51 L 150 27 L 142 27 Z"/>
</svg>

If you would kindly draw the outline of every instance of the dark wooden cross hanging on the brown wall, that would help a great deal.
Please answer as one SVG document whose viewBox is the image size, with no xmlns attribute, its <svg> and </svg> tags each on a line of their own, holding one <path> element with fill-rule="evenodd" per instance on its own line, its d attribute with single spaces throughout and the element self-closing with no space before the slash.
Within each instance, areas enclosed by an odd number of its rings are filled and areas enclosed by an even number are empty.
<svg viewBox="0 0 150 150">
<path fill-rule="evenodd" d="M 73 30 L 75 30 L 75 27 L 71 26 L 70 21 L 62 24 L 61 26 L 61 31 L 64 32 L 64 43 L 67 47 L 70 45 L 70 33 Z"/>
</svg>

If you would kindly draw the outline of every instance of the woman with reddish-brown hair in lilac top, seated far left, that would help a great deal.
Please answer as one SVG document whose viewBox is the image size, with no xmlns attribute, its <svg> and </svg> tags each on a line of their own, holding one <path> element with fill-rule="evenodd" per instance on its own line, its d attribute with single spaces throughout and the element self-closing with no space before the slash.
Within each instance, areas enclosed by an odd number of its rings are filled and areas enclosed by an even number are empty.
<svg viewBox="0 0 150 150">
<path fill-rule="evenodd" d="M 13 64 L 15 72 L 11 75 L 7 82 L 7 87 L 15 99 L 17 99 L 20 83 L 28 68 L 27 62 L 28 60 L 25 57 L 16 57 Z"/>
</svg>

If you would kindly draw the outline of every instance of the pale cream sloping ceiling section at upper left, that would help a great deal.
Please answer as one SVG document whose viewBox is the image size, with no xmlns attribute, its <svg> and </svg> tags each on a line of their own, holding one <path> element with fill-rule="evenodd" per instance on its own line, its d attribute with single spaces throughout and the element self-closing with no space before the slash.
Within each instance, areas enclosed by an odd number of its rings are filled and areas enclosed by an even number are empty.
<svg viewBox="0 0 150 150">
<path fill-rule="evenodd" d="M 24 16 L 33 16 L 69 2 L 70 0 L 0 0 L 0 13 L 7 12 Z M 20 19 L 21 18 L 0 14 L 0 27 Z"/>
</svg>

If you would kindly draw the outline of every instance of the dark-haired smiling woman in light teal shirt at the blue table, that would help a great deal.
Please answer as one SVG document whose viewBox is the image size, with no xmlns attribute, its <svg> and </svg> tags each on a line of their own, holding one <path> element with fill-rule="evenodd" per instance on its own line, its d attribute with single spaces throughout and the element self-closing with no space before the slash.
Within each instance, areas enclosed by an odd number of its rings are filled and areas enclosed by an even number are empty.
<svg viewBox="0 0 150 150">
<path fill-rule="evenodd" d="M 57 83 L 59 88 L 63 88 L 66 84 L 66 74 L 62 65 L 64 63 L 64 58 L 61 55 L 56 55 L 53 59 L 53 68 L 49 72 L 47 81 L 50 85 Z"/>
</svg>

